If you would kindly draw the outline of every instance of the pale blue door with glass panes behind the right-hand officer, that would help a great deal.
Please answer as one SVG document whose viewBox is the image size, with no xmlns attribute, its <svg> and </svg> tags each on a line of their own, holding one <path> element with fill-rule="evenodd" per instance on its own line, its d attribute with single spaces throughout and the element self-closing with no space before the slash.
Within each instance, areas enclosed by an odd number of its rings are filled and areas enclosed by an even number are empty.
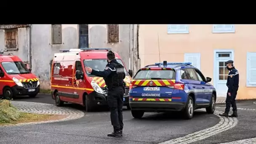
<svg viewBox="0 0 256 144">
<path fill-rule="evenodd" d="M 229 70 L 226 68 L 225 62 L 233 60 L 232 51 L 216 51 L 214 52 L 214 87 L 218 97 L 227 96 L 227 77 Z"/>
</svg>

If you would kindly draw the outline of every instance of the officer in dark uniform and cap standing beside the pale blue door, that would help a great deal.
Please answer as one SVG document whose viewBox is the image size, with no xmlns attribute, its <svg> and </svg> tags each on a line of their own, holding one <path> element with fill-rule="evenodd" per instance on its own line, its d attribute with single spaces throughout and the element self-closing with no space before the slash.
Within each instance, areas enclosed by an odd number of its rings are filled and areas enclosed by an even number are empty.
<svg viewBox="0 0 256 144">
<path fill-rule="evenodd" d="M 235 98 L 237 96 L 237 91 L 239 87 L 239 73 L 233 65 L 233 61 L 226 62 L 227 69 L 229 70 L 229 75 L 227 78 L 227 98 L 226 98 L 226 109 L 220 116 L 229 117 L 230 105 L 233 108 L 233 114 L 230 117 L 237 117 L 237 105 L 235 103 Z"/>
</svg>

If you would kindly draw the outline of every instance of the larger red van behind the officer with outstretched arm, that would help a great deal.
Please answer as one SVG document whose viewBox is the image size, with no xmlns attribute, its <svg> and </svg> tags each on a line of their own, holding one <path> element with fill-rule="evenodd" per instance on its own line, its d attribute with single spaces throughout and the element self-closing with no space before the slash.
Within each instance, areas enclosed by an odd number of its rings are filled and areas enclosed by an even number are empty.
<svg viewBox="0 0 256 144">
<path fill-rule="evenodd" d="M 64 102 L 80 104 L 89 112 L 97 106 L 107 105 L 107 88 L 103 77 L 96 77 L 85 72 L 85 67 L 103 71 L 107 65 L 107 52 L 110 48 L 81 48 L 63 50 L 55 53 L 51 70 L 51 94 L 57 106 Z M 117 61 L 125 67 L 120 56 Z M 124 105 L 129 106 L 129 85 L 132 70 L 125 67 L 126 89 Z"/>
</svg>

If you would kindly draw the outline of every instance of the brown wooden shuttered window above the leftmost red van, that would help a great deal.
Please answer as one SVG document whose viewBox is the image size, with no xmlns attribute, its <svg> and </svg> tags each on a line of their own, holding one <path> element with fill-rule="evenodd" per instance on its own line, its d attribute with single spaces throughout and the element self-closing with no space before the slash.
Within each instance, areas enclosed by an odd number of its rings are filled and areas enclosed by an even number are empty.
<svg viewBox="0 0 256 144">
<path fill-rule="evenodd" d="M 18 29 L 5 29 L 5 48 L 18 50 Z"/>
</svg>

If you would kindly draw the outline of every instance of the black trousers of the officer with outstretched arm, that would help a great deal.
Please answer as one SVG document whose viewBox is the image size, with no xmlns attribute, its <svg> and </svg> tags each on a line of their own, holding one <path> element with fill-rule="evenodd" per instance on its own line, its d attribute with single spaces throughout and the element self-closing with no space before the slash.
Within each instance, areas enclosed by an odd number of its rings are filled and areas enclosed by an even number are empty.
<svg viewBox="0 0 256 144">
<path fill-rule="evenodd" d="M 123 130 L 123 93 L 122 86 L 108 91 L 107 104 L 110 109 L 111 124 L 114 131 Z"/>
</svg>

